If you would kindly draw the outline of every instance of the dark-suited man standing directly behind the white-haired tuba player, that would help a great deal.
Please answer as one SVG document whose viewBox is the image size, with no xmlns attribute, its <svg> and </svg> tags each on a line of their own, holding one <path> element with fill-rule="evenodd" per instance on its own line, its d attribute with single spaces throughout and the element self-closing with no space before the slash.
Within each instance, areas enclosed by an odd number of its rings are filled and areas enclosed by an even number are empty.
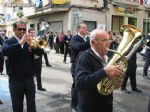
<svg viewBox="0 0 150 112">
<path fill-rule="evenodd" d="M 73 78 L 73 84 L 71 88 L 71 108 L 72 112 L 77 111 L 78 106 L 78 91 L 75 87 L 75 61 L 79 52 L 89 49 L 90 44 L 87 41 L 87 26 L 85 23 L 80 23 L 77 26 L 77 34 L 74 35 L 71 39 L 71 74 Z"/>
</svg>

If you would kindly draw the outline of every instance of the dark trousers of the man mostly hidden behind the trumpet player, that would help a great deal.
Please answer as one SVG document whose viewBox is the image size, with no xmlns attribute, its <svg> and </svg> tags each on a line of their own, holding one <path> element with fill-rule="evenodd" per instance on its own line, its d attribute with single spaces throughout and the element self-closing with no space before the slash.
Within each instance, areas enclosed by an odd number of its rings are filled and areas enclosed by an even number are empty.
<svg viewBox="0 0 150 112">
<path fill-rule="evenodd" d="M 42 56 L 34 60 L 34 72 L 37 80 L 37 87 L 42 88 L 41 72 L 42 72 Z"/>
</svg>

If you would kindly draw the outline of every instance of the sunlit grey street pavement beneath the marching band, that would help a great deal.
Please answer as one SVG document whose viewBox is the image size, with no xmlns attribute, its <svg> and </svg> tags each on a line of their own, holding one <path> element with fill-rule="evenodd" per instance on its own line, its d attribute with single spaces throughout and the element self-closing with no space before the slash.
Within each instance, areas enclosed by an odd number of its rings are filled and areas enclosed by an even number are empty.
<svg viewBox="0 0 150 112">
<path fill-rule="evenodd" d="M 47 91 L 37 90 L 36 92 L 37 112 L 71 112 L 70 59 L 67 57 L 67 63 L 64 64 L 63 55 L 55 54 L 54 50 L 50 51 L 48 58 L 52 67 L 47 67 L 43 59 L 42 82 Z M 121 92 L 120 89 L 114 91 L 114 112 L 147 112 L 150 80 L 142 77 L 144 61 L 140 55 L 138 55 L 137 64 L 137 87 L 142 90 L 142 93 L 126 94 Z M 130 81 L 127 83 L 127 89 L 131 91 Z M 0 112 L 12 112 L 7 75 L 0 76 L 0 99 L 3 101 L 3 104 L 0 105 Z M 24 112 L 26 112 L 26 105 L 24 105 Z"/>
</svg>

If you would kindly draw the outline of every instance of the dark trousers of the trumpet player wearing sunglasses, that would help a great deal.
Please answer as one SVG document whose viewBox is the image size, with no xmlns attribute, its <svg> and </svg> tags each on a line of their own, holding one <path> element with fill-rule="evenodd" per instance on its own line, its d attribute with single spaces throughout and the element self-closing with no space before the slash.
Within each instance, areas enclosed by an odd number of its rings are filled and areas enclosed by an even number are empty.
<svg viewBox="0 0 150 112">
<path fill-rule="evenodd" d="M 35 84 L 33 78 L 21 82 L 9 80 L 9 90 L 13 112 L 23 112 L 24 95 L 27 101 L 27 112 L 36 112 Z"/>
</svg>

